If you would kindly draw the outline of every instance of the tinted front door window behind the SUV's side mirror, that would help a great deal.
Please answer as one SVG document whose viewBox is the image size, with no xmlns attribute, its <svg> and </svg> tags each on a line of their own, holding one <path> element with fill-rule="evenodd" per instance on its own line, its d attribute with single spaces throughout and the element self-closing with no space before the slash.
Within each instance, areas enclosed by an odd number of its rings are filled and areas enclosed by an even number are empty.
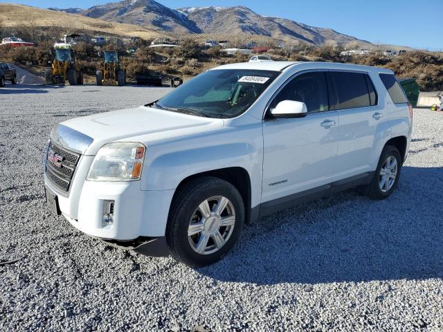
<svg viewBox="0 0 443 332">
<path fill-rule="evenodd" d="M 313 71 L 293 78 L 275 97 L 271 108 L 276 107 L 283 100 L 294 100 L 304 102 L 308 113 L 329 111 L 328 98 L 325 73 Z"/>
</svg>

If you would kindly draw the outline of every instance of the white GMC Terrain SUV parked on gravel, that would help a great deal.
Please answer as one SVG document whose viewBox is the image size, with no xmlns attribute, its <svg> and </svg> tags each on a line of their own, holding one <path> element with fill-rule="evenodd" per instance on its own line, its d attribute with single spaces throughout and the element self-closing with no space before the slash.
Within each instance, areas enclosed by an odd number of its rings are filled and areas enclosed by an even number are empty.
<svg viewBox="0 0 443 332">
<path fill-rule="evenodd" d="M 387 69 L 219 66 L 152 104 L 58 124 L 46 199 L 91 237 L 204 266 L 266 214 L 355 186 L 388 197 L 412 116 Z"/>
</svg>

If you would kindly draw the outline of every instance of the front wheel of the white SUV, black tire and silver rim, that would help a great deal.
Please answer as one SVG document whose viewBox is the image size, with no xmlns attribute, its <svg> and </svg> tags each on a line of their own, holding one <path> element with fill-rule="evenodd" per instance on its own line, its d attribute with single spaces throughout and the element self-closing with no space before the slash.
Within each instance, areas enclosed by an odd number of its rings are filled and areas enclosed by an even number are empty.
<svg viewBox="0 0 443 332">
<path fill-rule="evenodd" d="M 223 200 L 226 208 L 218 214 L 217 206 Z M 204 214 L 201 211 L 208 210 L 199 206 L 208 207 L 211 214 Z M 220 225 L 223 220 L 226 225 Z M 171 204 L 166 227 L 170 255 L 191 267 L 213 264 L 233 248 L 243 223 L 244 203 L 233 185 L 211 176 L 192 179 L 179 189 Z M 188 237 L 188 231 L 194 234 Z M 198 246 L 203 239 L 205 246 Z"/>
</svg>

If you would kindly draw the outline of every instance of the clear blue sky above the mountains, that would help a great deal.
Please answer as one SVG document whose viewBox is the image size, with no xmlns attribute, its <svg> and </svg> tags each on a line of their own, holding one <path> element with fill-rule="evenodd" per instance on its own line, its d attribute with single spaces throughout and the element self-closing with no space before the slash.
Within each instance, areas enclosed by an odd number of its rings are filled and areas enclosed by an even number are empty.
<svg viewBox="0 0 443 332">
<path fill-rule="evenodd" d="M 0 1 L 3 2 L 3 1 Z M 40 8 L 89 8 L 109 0 L 4 1 Z M 443 0 L 158 0 L 170 8 L 246 6 L 264 16 L 332 28 L 374 44 L 443 50 Z"/>
</svg>

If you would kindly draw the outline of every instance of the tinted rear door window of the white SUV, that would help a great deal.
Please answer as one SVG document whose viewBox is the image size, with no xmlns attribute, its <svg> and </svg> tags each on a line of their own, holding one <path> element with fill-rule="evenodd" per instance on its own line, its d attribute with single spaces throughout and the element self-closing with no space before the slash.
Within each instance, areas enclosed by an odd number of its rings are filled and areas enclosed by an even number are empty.
<svg viewBox="0 0 443 332">
<path fill-rule="evenodd" d="M 337 110 L 368 107 L 377 102 L 373 86 L 372 96 L 370 95 L 365 73 L 332 71 L 329 75 L 336 90 L 335 108 Z"/>
</svg>

